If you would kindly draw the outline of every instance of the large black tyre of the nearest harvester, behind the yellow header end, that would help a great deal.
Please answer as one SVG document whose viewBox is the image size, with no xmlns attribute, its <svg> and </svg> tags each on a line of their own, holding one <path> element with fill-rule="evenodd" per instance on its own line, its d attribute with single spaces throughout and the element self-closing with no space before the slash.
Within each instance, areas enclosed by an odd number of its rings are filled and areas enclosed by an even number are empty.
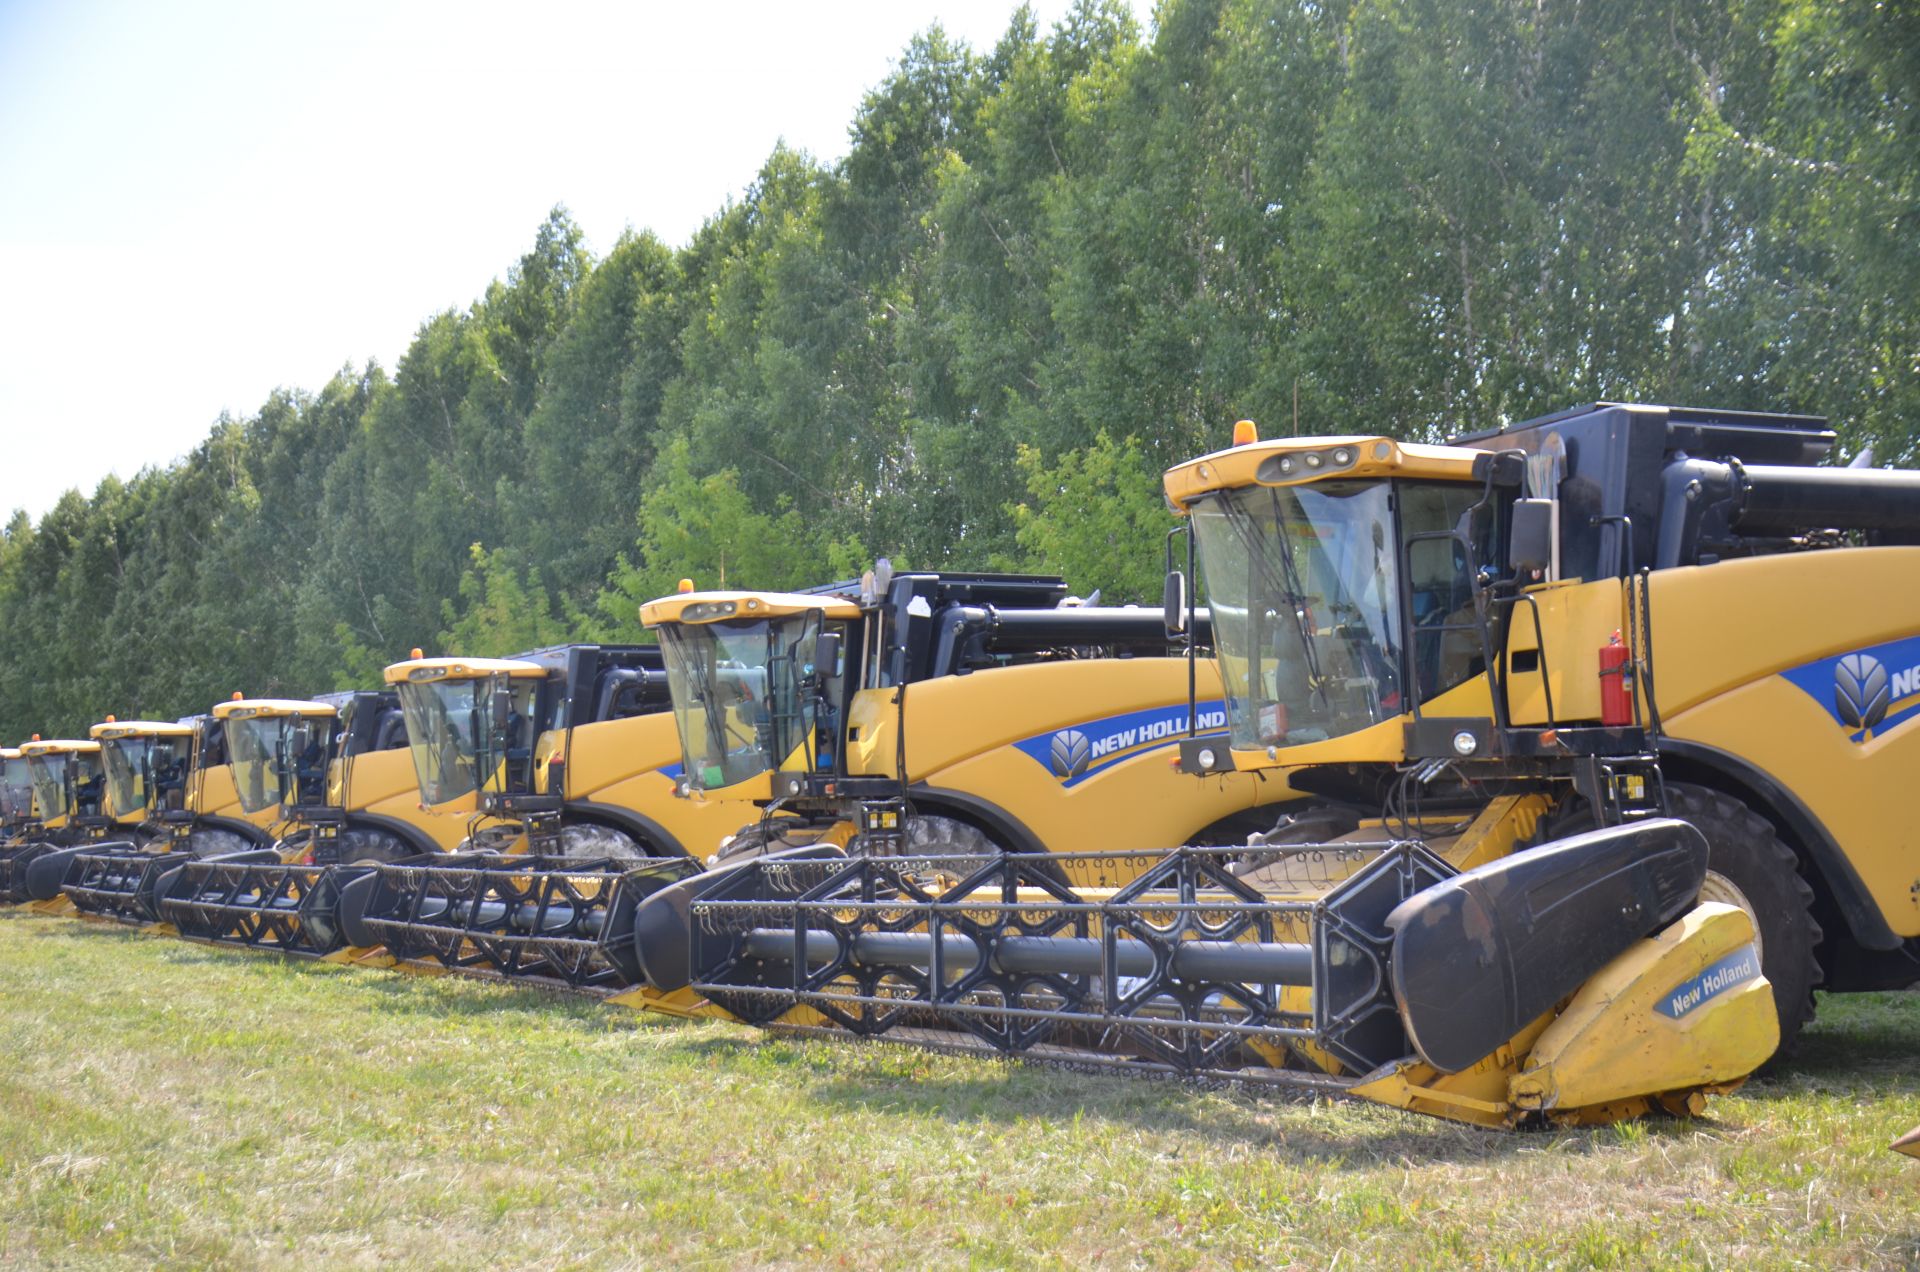
<svg viewBox="0 0 1920 1272">
<path fill-rule="evenodd" d="M 1761 970 L 1774 986 L 1780 1013 L 1780 1053 L 1791 1049 L 1812 1020 L 1812 990 L 1820 984 L 1820 924 L 1812 917 L 1812 888 L 1801 876 L 1799 855 L 1774 824 L 1740 799 L 1707 786 L 1668 782 L 1668 811 L 1707 836 L 1707 884 L 1701 901 L 1738 905 L 1753 920 Z"/>
</svg>

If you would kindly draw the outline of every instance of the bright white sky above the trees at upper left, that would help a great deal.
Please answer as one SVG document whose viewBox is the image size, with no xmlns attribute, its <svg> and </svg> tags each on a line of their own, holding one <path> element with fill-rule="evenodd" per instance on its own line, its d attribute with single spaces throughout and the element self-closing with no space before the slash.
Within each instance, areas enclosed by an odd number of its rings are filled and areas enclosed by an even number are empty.
<svg viewBox="0 0 1920 1272">
<path fill-rule="evenodd" d="M 680 244 L 778 138 L 843 156 L 914 33 L 1014 8 L 0 0 L 0 515 L 392 369 L 555 204 Z"/>
</svg>

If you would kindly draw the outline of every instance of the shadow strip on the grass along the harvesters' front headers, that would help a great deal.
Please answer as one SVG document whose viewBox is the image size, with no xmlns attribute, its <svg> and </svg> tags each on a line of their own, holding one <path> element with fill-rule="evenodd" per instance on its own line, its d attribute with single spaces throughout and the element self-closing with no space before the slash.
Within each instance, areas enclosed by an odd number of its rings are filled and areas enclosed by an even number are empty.
<svg viewBox="0 0 1920 1272">
<path fill-rule="evenodd" d="M 0 918 L 40 918 L 19 911 Z M 132 926 L 83 920 L 48 924 L 36 936 L 81 940 L 150 940 Z M 167 959 L 184 965 L 236 970 L 286 968 L 296 976 L 336 980 L 340 968 L 298 955 L 238 945 L 165 940 Z M 420 976 L 392 968 L 346 968 L 351 991 L 372 995 L 382 1013 L 447 1018 L 499 1013 L 559 1011 L 580 1022 L 609 1028 L 684 1028 L 687 1022 L 645 1011 L 611 1009 L 589 995 L 555 986 L 482 976 Z M 340 984 L 340 982 L 336 982 Z M 1749 1082 L 1743 1097 L 1755 1101 L 1805 1099 L 1809 1093 L 1862 1093 L 1899 1097 L 1920 1093 L 1920 993 L 1822 995 L 1822 1016 L 1799 1040 L 1795 1053 Z M 685 1028 L 674 1049 L 697 1063 L 766 1064 L 812 1072 L 812 1097 L 824 1105 L 904 1118 L 952 1122 L 1018 1122 L 1023 1118 L 1094 1118 L 1131 1130 L 1204 1134 L 1227 1137 L 1260 1151 L 1281 1151 L 1325 1164 L 1373 1164 L 1379 1161 L 1471 1162 L 1524 1151 L 1594 1153 L 1622 1141 L 1622 1132 L 1521 1130 L 1500 1132 L 1459 1126 L 1359 1101 L 1327 1099 L 1271 1088 L 1188 1084 L 1154 1074 L 1089 1074 L 1044 1064 L 977 1061 L 981 1076 L 927 1074 L 906 1059 L 912 1047 L 829 1043 L 793 1038 L 739 1036 Z M 868 1063 L 862 1057 L 889 1057 Z M 1632 1136 L 1647 1139 L 1692 1137 L 1715 1130 L 1713 1118 L 1653 1118 Z M 1895 1134 L 1905 1126 L 1895 1128 Z"/>
</svg>

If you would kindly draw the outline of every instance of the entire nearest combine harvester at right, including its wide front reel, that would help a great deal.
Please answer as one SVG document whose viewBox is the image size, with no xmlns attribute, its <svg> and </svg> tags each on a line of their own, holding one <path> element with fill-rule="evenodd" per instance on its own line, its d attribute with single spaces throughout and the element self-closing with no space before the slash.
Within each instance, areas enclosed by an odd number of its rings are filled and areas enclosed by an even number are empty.
<svg viewBox="0 0 1920 1272">
<path fill-rule="evenodd" d="M 1181 767 L 1309 807 L 1119 888 L 1037 853 L 716 870 L 641 905 L 664 963 L 755 1024 L 1480 1124 L 1692 1111 L 1818 974 L 1920 978 L 1920 475 L 1818 467 L 1814 419 L 1611 404 L 1236 434 L 1165 475 L 1229 726 Z"/>
</svg>

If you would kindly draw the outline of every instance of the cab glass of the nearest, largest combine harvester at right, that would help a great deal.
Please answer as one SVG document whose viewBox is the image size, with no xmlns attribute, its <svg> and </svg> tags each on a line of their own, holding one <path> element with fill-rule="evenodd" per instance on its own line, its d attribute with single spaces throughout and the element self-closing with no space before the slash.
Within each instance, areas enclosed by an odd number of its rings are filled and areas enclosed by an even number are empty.
<svg viewBox="0 0 1920 1272">
<path fill-rule="evenodd" d="M 1461 619 L 1473 609 L 1469 563 L 1452 538 L 1428 538 L 1478 500 L 1471 482 L 1325 480 L 1194 505 L 1235 747 L 1352 734 L 1407 709 L 1407 674 L 1423 697 L 1478 674 Z M 1415 575 L 1411 657 L 1402 546 Z"/>
</svg>

